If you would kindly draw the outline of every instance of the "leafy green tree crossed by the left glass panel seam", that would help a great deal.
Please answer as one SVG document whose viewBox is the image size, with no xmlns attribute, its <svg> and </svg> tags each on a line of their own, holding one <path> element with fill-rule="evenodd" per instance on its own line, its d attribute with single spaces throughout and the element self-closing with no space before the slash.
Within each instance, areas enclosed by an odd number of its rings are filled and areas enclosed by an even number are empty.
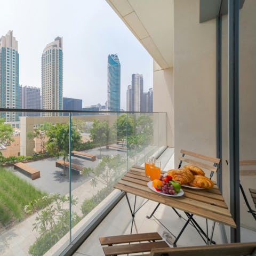
<svg viewBox="0 0 256 256">
<path fill-rule="evenodd" d="M 50 127 L 46 135 L 49 138 L 46 142 L 46 150 L 50 155 L 62 157 L 64 162 L 62 175 L 65 175 L 65 161 L 69 157 L 69 124 L 56 123 Z M 80 134 L 73 126 L 71 127 L 72 149 L 76 149 L 80 143 Z"/>
</svg>

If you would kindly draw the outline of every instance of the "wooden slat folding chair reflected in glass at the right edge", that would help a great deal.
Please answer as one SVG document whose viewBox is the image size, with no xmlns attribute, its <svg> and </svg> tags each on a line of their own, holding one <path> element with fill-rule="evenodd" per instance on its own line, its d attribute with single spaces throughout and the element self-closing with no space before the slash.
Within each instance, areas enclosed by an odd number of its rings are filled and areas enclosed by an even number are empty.
<svg viewBox="0 0 256 256">
<path fill-rule="evenodd" d="M 243 166 L 240 168 L 239 170 L 239 173 L 241 176 L 252 176 L 252 175 L 256 175 L 256 160 L 241 160 L 239 161 L 239 166 Z M 248 166 L 252 166 L 252 169 L 244 169 L 244 166 L 248 167 Z M 254 169 L 255 168 L 255 169 Z M 246 194 L 245 194 L 245 191 L 244 191 L 244 188 L 240 182 L 240 190 L 241 190 L 241 193 L 244 197 L 244 201 L 245 201 L 245 204 L 247 205 L 248 207 L 248 212 L 252 214 L 253 218 L 256 220 L 256 211 L 252 209 L 250 203 L 248 202 L 248 199 L 246 197 Z M 252 196 L 252 201 L 255 205 L 255 209 L 256 209 L 256 189 L 255 188 L 249 188 L 249 191 L 251 193 L 251 196 Z"/>
</svg>

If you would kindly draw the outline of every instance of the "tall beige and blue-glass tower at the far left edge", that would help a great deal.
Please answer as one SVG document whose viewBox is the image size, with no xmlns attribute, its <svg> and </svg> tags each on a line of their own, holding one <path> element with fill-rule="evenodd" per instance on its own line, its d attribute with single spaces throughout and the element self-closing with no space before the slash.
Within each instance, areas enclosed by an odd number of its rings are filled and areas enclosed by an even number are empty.
<svg viewBox="0 0 256 256">
<path fill-rule="evenodd" d="M 0 38 L 0 106 L 1 108 L 19 108 L 19 53 L 18 41 L 9 30 Z M 19 120 L 19 113 L 1 114 L 6 122 Z"/>
</svg>

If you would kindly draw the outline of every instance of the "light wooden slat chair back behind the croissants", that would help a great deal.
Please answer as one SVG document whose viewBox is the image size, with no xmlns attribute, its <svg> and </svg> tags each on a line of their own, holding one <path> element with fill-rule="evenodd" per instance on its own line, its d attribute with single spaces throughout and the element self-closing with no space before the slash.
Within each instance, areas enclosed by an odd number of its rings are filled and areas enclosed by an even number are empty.
<svg viewBox="0 0 256 256">
<path fill-rule="evenodd" d="M 180 159 L 179 168 L 181 168 L 181 165 L 184 162 L 188 164 L 196 165 L 198 167 L 201 167 L 202 169 L 209 170 L 211 172 L 210 179 L 212 179 L 213 174 L 218 171 L 218 167 L 221 161 L 220 158 L 205 156 L 205 155 L 197 154 L 192 151 L 188 151 L 184 149 L 181 149 L 180 153 L 182 154 L 182 156 L 179 158 Z M 202 160 L 204 162 L 202 162 Z"/>
</svg>

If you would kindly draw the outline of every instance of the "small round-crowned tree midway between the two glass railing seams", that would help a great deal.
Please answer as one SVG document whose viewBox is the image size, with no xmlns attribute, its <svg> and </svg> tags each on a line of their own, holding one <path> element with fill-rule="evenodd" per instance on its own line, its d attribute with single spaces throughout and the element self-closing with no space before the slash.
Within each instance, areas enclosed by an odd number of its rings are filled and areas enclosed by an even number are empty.
<svg viewBox="0 0 256 256">
<path fill-rule="evenodd" d="M 106 120 L 99 121 L 98 119 L 93 120 L 92 128 L 90 129 L 90 138 L 94 143 L 100 146 L 100 157 L 101 147 L 107 145 L 110 137 L 110 129 Z"/>
</svg>

